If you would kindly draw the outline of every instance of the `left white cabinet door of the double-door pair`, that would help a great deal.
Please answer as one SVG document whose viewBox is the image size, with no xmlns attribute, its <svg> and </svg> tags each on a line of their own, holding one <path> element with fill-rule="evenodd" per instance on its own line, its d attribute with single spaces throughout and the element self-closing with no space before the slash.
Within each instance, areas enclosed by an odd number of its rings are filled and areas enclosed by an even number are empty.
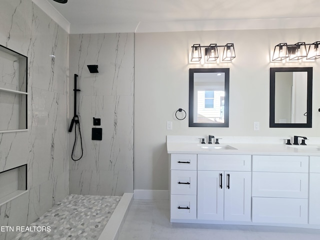
<svg viewBox="0 0 320 240">
<path fill-rule="evenodd" d="M 223 220 L 223 171 L 198 171 L 197 219 Z"/>
</svg>

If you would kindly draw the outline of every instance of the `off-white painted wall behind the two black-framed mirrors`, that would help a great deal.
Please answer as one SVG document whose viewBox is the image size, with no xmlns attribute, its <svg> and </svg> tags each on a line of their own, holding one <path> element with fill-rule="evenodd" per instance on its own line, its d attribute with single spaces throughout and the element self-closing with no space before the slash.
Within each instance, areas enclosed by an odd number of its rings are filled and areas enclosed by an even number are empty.
<svg viewBox="0 0 320 240">
<path fill-rule="evenodd" d="M 134 189 L 168 189 L 166 135 L 319 136 L 320 61 L 270 63 L 274 45 L 280 42 L 319 39 L 319 28 L 136 33 Z M 236 55 L 232 63 L 189 63 L 192 44 L 230 42 Z M 269 128 L 269 68 L 280 66 L 313 67 L 312 128 Z M 228 128 L 188 127 L 187 117 L 174 117 L 180 107 L 189 112 L 188 69 L 197 67 L 230 68 Z M 166 130 L 166 121 L 173 122 L 172 130 Z M 260 122 L 259 131 L 253 130 L 254 121 Z"/>
</svg>

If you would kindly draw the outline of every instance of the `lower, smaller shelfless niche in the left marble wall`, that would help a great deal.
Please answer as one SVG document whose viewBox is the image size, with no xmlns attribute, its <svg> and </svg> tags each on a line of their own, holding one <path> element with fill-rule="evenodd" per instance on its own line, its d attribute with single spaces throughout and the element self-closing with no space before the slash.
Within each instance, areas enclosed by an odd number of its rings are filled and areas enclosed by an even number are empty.
<svg viewBox="0 0 320 240">
<path fill-rule="evenodd" d="M 27 192 L 26 164 L 0 172 L 0 206 Z"/>
</svg>

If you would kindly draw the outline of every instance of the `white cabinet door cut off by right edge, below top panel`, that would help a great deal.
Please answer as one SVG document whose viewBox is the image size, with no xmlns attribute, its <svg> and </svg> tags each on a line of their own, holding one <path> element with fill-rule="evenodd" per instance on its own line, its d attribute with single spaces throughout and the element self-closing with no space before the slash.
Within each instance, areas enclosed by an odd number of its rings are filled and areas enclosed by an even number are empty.
<svg viewBox="0 0 320 240">
<path fill-rule="evenodd" d="M 320 224 L 320 173 L 310 173 L 309 223 Z"/>
</svg>

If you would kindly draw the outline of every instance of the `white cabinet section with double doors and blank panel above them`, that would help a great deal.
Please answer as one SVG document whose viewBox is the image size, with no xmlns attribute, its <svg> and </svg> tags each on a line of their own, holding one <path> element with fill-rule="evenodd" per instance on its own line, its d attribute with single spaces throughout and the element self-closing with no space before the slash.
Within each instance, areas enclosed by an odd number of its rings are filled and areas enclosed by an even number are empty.
<svg viewBox="0 0 320 240">
<path fill-rule="evenodd" d="M 251 156 L 198 154 L 197 219 L 251 220 Z"/>
</svg>

